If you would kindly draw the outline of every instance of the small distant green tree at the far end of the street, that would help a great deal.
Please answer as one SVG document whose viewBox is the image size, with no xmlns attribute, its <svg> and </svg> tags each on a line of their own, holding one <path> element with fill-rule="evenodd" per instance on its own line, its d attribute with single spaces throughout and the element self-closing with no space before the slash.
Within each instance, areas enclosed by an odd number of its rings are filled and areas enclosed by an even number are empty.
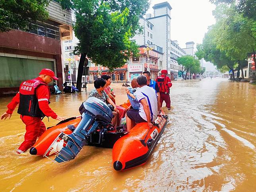
<svg viewBox="0 0 256 192">
<path fill-rule="evenodd" d="M 183 79 L 184 79 L 183 73 L 186 71 L 185 80 L 186 80 L 186 77 L 187 77 L 189 71 L 190 71 L 190 73 L 200 72 L 200 61 L 191 55 L 182 56 L 182 57 L 178 58 L 177 61 L 178 61 L 179 65 L 182 65 L 181 72 L 182 72 Z M 190 76 L 190 78 L 191 78 L 191 76 Z"/>
</svg>

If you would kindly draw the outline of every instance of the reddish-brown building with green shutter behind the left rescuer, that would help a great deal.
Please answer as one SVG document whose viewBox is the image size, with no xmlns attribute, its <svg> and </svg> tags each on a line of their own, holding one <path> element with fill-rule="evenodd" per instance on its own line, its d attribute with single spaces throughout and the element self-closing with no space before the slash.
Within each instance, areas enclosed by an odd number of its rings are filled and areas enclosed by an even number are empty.
<svg viewBox="0 0 256 192">
<path fill-rule="evenodd" d="M 55 72 L 62 88 L 61 41 L 72 39 L 71 11 L 63 10 L 55 1 L 49 3 L 47 10 L 48 20 L 31 20 L 35 25 L 31 31 L 13 25 L 13 30 L 0 33 L 0 95 L 17 93 L 22 81 L 37 77 L 43 68 Z"/>
</svg>

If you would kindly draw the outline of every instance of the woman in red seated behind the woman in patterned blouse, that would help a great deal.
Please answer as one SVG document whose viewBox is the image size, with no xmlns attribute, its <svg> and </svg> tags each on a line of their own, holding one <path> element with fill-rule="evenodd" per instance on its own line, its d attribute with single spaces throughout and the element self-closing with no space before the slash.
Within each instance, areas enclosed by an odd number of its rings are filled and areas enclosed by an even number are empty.
<svg viewBox="0 0 256 192">
<path fill-rule="evenodd" d="M 109 98 L 113 101 L 113 103 L 116 104 L 116 102 L 115 102 L 115 96 L 116 95 L 114 95 L 113 91 L 111 91 L 111 88 L 109 86 L 111 84 L 111 76 L 103 75 L 103 76 L 101 76 L 101 78 L 103 78 L 106 81 L 104 91 L 107 93 Z M 126 109 L 124 107 L 119 106 L 119 105 L 116 105 L 116 109 L 119 111 L 119 120 L 121 120 L 121 118 L 124 118 L 124 115 L 126 113 Z"/>
</svg>

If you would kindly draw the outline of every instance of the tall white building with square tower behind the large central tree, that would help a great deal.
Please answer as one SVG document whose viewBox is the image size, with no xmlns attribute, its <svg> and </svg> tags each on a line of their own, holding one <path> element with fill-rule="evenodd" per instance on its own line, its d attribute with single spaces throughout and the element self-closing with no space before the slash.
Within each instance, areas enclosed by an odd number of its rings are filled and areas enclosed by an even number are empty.
<svg viewBox="0 0 256 192">
<path fill-rule="evenodd" d="M 172 7 L 168 2 L 155 4 L 153 6 L 153 17 L 146 14 L 146 18 L 140 18 L 140 25 L 143 27 L 143 33 L 136 35 L 135 40 L 138 45 L 155 44 L 163 52 L 163 63 L 159 70 L 167 70 L 171 77 L 177 78 L 178 66 L 176 59 L 186 55 L 186 51 L 178 46 L 177 41 L 171 41 L 171 13 Z M 159 50 L 157 50 L 159 51 Z"/>
</svg>

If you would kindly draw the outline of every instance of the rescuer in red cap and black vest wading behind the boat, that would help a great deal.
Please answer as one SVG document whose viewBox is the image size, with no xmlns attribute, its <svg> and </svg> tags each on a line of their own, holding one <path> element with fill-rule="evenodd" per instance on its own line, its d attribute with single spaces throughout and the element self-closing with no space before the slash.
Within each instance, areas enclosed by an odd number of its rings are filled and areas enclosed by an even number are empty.
<svg viewBox="0 0 256 192">
<path fill-rule="evenodd" d="M 46 127 L 41 118 L 47 116 L 57 120 L 65 118 L 56 115 L 49 107 L 50 89 L 48 83 L 52 80 L 58 80 L 54 72 L 50 69 L 42 69 L 39 77 L 33 80 L 27 80 L 19 86 L 19 92 L 7 105 L 8 110 L 2 114 L 1 119 L 11 118 L 12 112 L 19 104 L 18 113 L 22 122 L 26 125 L 24 142 L 17 149 L 17 153 L 27 151 L 35 144 L 37 137 L 45 132 Z"/>
</svg>

